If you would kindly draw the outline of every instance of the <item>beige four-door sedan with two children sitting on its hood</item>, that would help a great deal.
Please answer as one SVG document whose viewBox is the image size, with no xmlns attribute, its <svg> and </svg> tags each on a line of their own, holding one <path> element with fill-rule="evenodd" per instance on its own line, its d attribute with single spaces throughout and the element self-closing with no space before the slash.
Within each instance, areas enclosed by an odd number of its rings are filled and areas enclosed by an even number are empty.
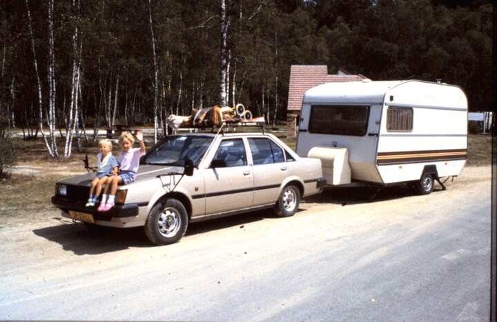
<svg viewBox="0 0 497 322">
<path fill-rule="evenodd" d="M 140 161 L 136 181 L 120 185 L 108 212 L 86 207 L 93 174 L 56 183 L 64 217 L 101 226 L 143 226 L 157 245 L 181 239 L 188 223 L 274 208 L 293 216 L 300 199 L 322 190 L 321 161 L 299 157 L 273 134 L 188 133 L 166 137 Z"/>
</svg>

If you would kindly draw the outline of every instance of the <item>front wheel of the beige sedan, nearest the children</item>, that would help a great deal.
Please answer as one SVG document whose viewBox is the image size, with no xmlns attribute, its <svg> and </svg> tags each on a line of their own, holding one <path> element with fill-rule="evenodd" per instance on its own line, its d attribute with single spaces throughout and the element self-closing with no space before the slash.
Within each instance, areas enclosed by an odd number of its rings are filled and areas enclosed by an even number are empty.
<svg viewBox="0 0 497 322">
<path fill-rule="evenodd" d="M 168 245 L 182 239 L 187 227 L 184 205 L 176 199 L 162 199 L 150 210 L 144 230 L 152 243 Z"/>
</svg>

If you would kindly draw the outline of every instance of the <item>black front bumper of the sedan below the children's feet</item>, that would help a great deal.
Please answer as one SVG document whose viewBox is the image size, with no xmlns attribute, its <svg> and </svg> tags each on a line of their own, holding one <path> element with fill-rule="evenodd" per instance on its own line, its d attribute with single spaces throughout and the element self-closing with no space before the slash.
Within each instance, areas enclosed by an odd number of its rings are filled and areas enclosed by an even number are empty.
<svg viewBox="0 0 497 322">
<path fill-rule="evenodd" d="M 115 205 L 113 208 L 106 212 L 97 211 L 97 206 L 86 207 L 81 201 L 74 201 L 59 195 L 52 197 L 52 205 L 59 208 L 64 212 L 69 210 L 84 212 L 86 214 L 92 214 L 95 220 L 110 221 L 113 218 L 124 218 L 124 217 L 136 217 L 139 212 L 139 205 L 137 203 L 125 203 L 124 205 Z"/>
</svg>

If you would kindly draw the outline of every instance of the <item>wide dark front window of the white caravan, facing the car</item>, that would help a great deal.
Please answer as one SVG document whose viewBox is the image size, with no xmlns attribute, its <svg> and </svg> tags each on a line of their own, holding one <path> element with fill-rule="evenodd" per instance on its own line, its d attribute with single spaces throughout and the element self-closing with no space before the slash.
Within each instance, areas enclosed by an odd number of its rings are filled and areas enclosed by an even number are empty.
<svg viewBox="0 0 497 322">
<path fill-rule="evenodd" d="M 369 106 L 313 105 L 309 132 L 363 136 L 367 130 Z"/>
</svg>

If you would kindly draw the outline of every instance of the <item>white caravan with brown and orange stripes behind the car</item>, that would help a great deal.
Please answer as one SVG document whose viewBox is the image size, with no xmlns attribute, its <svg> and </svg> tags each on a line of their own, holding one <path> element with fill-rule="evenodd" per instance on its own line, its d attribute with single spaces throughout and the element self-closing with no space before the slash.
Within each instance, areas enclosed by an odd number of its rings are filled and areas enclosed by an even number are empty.
<svg viewBox="0 0 497 322">
<path fill-rule="evenodd" d="M 426 81 L 326 83 L 304 94 L 296 151 L 322 160 L 328 185 L 414 183 L 458 176 L 467 159 L 467 99 Z"/>
</svg>

